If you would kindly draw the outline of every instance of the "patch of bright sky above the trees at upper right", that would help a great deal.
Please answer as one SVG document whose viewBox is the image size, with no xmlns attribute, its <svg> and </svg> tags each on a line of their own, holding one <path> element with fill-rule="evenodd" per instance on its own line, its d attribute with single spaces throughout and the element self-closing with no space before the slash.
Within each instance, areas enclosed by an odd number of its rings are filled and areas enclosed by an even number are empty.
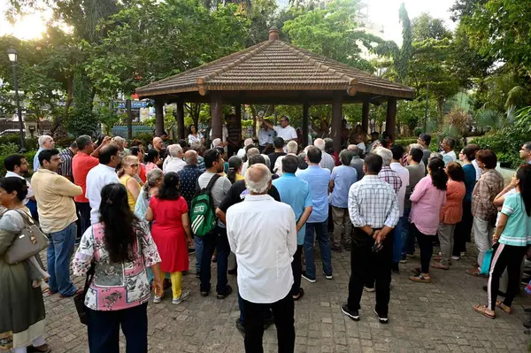
<svg viewBox="0 0 531 353">
<path fill-rule="evenodd" d="M 384 39 L 402 44 L 402 25 L 398 20 L 400 4 L 405 4 L 405 9 L 410 19 L 423 12 L 435 18 L 444 19 L 446 26 L 453 30 L 456 24 L 450 19 L 450 7 L 455 0 L 364 0 L 369 5 L 369 19 L 371 22 L 382 25 Z"/>
</svg>

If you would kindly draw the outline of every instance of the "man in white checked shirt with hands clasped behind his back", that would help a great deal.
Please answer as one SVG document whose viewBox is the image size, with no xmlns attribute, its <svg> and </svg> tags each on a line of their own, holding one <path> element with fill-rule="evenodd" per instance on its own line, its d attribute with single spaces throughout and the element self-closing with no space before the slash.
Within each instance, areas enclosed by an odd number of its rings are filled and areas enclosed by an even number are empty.
<svg viewBox="0 0 531 353">
<path fill-rule="evenodd" d="M 399 219 L 396 192 L 381 180 L 382 158 L 371 154 L 363 165 L 365 177 L 349 190 L 349 214 L 352 221 L 350 282 L 348 303 L 342 312 L 355 321 L 364 283 L 376 282 L 374 311 L 382 324 L 389 322 L 391 265 L 393 262 L 393 227 Z"/>
</svg>

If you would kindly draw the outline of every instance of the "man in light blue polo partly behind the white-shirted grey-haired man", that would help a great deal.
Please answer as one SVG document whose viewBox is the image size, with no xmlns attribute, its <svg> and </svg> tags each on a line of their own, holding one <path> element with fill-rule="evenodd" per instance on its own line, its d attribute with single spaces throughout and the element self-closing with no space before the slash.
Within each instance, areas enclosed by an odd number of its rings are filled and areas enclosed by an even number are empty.
<svg viewBox="0 0 531 353">
<path fill-rule="evenodd" d="M 293 287 L 291 295 L 294 300 L 299 300 L 304 295 L 301 288 L 302 263 L 301 255 L 304 245 L 304 234 L 306 233 L 306 221 L 312 214 L 312 196 L 310 186 L 304 180 L 295 176 L 298 167 L 298 158 L 286 156 L 282 158 L 282 176 L 273 180 L 273 186 L 277 188 L 281 195 L 282 203 L 288 203 L 295 212 L 296 219 L 296 253 L 291 262 L 293 270 Z"/>
</svg>

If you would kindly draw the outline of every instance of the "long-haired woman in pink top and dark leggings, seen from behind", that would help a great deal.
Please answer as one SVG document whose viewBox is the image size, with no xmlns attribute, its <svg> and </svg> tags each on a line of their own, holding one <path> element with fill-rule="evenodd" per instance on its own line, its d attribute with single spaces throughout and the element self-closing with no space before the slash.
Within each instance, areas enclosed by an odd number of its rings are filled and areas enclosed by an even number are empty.
<svg viewBox="0 0 531 353">
<path fill-rule="evenodd" d="M 446 204 L 447 182 L 448 175 L 444 172 L 443 159 L 433 158 L 427 164 L 427 176 L 419 181 L 410 196 L 412 200 L 410 223 L 420 248 L 420 268 L 412 269 L 415 275 L 410 277 L 414 282 L 431 282 L 429 263 L 439 227 L 439 212 Z"/>
</svg>

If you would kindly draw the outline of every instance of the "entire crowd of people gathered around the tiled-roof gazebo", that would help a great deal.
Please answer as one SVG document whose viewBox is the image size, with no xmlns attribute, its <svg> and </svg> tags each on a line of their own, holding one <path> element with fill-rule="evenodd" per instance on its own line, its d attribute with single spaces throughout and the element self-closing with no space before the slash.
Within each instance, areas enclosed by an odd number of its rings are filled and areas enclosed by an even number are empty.
<svg viewBox="0 0 531 353">
<path fill-rule="evenodd" d="M 155 137 L 149 146 L 133 140 L 130 148 L 119 136 L 96 144 L 81 135 L 57 150 L 44 135 L 30 181 L 26 158 L 6 157 L 0 296 L 12 303 L 0 311 L 0 350 L 50 351 L 43 339 L 42 293 L 48 292 L 85 295 L 90 351 L 118 351 L 121 326 L 127 351 L 145 352 L 148 301 L 161 303 L 170 288 L 173 304 L 187 300 L 193 288 L 182 288 L 182 276 L 194 256 L 201 296 L 213 291 L 212 262 L 217 299 L 233 293 L 227 274 L 237 276 L 235 325 L 247 352 L 263 351 L 264 330 L 273 324 L 279 351 L 293 352 L 301 280 L 321 279 L 316 245 L 325 280 L 334 279 L 332 251 L 350 251 L 342 313 L 360 319 L 365 288 L 375 292 L 374 312 L 386 324 L 391 275 L 415 256 L 415 247 L 420 267 L 412 268 L 410 280 L 429 283 L 432 269 L 448 271 L 466 256 L 472 231 L 478 257 L 466 273 L 489 278 L 487 304 L 473 309 L 488 318 L 496 317 L 496 308 L 512 311 L 531 244 L 531 142 L 520 150 L 526 163 L 505 187 L 492 150 L 469 144 L 457 155 L 450 137 L 432 151 L 429 134 L 409 146 L 393 143 L 389 134 L 373 133 L 370 143 L 356 134 L 356 143 L 337 151 L 323 134 L 302 149 L 288 117 L 279 127 L 259 122 L 258 143 L 241 144 L 224 127 L 210 146 L 194 126 L 188 140 Z M 40 258 L 4 260 L 32 216 L 50 239 L 46 268 Z M 441 252 L 434 256 L 436 242 Z M 491 261 L 487 272 L 485 261 Z M 89 288 L 74 286 L 71 267 L 75 276 L 96 273 Z"/>
</svg>

